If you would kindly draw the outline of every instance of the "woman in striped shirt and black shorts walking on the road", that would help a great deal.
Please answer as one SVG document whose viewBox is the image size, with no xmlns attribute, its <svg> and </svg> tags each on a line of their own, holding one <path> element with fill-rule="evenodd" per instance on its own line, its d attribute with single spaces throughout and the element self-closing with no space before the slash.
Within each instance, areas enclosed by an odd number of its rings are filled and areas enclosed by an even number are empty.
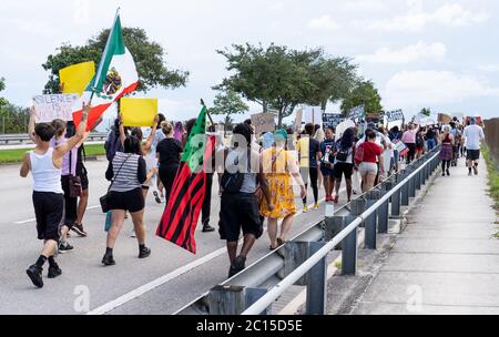
<svg viewBox="0 0 499 337">
<path fill-rule="evenodd" d="M 116 152 L 109 163 L 105 178 L 111 182 L 109 188 L 109 207 L 112 211 L 112 225 L 108 232 L 106 248 L 102 264 L 115 265 L 113 249 L 120 231 L 123 227 L 125 214 L 132 216 L 134 233 L 139 242 L 139 258 L 151 255 L 151 249 L 145 246 L 144 225 L 144 195 L 142 185 L 156 172 L 156 167 L 145 171 L 146 164 L 142 156 L 141 141 L 133 136 L 126 136 L 124 151 Z"/>
</svg>

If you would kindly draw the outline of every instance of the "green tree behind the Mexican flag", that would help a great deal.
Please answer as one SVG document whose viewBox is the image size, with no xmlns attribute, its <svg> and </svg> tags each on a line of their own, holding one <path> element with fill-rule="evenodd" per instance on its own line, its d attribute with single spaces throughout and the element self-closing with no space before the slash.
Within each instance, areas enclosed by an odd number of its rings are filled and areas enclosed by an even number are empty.
<svg viewBox="0 0 499 337">
<path fill-rule="evenodd" d="M 58 93 L 60 81 L 59 71 L 65 67 L 94 61 L 95 65 L 102 57 L 110 30 L 101 31 L 91 38 L 84 45 L 71 45 L 63 43 L 57 49 L 58 53 L 50 54 L 43 69 L 50 71 L 49 82 L 45 84 L 44 93 Z M 161 44 L 150 41 L 145 30 L 141 28 L 123 28 L 123 38 L 126 48 L 133 55 L 139 73 L 139 91 L 146 92 L 155 86 L 175 89 L 185 85 L 189 72 L 169 70 L 165 65 L 166 53 Z"/>
</svg>

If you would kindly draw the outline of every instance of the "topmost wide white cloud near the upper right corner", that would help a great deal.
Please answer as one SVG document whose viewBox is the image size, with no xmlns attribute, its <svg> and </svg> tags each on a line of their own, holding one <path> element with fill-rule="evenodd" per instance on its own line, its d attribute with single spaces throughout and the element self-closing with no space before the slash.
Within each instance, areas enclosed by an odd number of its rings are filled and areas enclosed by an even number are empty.
<svg viewBox="0 0 499 337">
<path fill-rule="evenodd" d="M 427 24 L 436 23 L 448 27 L 465 27 L 478 24 L 487 21 L 489 14 L 486 12 L 473 13 L 462 8 L 460 4 L 444 4 L 434 12 L 422 10 L 421 3 L 415 1 L 407 14 L 393 19 L 379 20 L 368 24 L 370 29 L 384 31 L 413 31 L 425 30 Z"/>
</svg>

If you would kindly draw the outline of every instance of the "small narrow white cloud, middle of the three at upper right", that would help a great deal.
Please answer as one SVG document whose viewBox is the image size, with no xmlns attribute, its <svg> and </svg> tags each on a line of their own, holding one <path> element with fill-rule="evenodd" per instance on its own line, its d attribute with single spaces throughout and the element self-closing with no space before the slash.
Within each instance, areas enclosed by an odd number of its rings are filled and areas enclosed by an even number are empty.
<svg viewBox="0 0 499 337">
<path fill-rule="evenodd" d="M 380 48 L 373 54 L 358 55 L 358 61 L 373 63 L 406 64 L 420 61 L 422 59 L 441 60 L 445 58 L 447 48 L 444 43 L 426 43 L 419 41 L 416 44 L 408 45 L 400 50 Z"/>
</svg>

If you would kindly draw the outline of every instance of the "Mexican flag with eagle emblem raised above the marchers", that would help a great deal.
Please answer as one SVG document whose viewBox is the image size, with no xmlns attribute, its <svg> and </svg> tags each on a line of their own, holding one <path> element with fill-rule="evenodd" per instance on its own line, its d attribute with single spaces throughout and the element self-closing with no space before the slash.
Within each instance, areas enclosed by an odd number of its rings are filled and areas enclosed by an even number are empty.
<svg viewBox="0 0 499 337">
<path fill-rule="evenodd" d="M 120 14 L 105 44 L 101 63 L 95 76 L 90 81 L 85 92 L 73 108 L 73 121 L 78 126 L 82 118 L 82 106 L 92 96 L 92 111 L 89 114 L 88 130 L 91 130 L 99 118 L 123 95 L 136 90 L 139 74 L 132 54 L 126 49 L 121 29 Z"/>
</svg>

